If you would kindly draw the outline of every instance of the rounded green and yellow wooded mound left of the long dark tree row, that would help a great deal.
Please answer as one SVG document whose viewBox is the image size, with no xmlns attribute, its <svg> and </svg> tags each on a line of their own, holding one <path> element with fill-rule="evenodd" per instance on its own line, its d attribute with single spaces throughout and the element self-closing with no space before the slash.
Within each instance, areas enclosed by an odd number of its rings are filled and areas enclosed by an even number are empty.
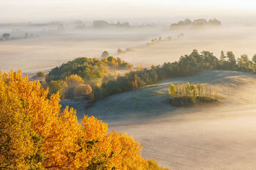
<svg viewBox="0 0 256 170">
<path fill-rule="evenodd" d="M 102 80 L 108 80 L 111 69 L 129 69 L 132 64 L 120 58 L 109 56 L 99 60 L 86 57 L 77 58 L 60 67 L 55 67 L 47 74 L 42 85 L 49 87 L 50 94 L 60 92 L 61 99 L 86 96 L 92 92 L 92 87 Z M 38 74 L 40 74 L 38 72 Z"/>
</svg>

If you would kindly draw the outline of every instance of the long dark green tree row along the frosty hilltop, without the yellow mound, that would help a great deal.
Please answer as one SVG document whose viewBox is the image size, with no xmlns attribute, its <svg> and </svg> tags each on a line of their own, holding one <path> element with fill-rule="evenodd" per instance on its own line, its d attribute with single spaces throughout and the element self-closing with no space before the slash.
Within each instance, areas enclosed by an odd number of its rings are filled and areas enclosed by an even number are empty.
<svg viewBox="0 0 256 170">
<path fill-rule="evenodd" d="M 90 94 L 90 99 L 93 103 L 104 97 L 138 89 L 165 78 L 192 76 L 204 69 L 231 69 L 255 73 L 256 55 L 253 56 L 252 61 L 246 56 L 241 55 L 236 59 L 233 52 L 225 54 L 221 51 L 219 60 L 211 52 L 203 51 L 199 53 L 197 50 L 193 50 L 189 55 L 181 56 L 179 61 L 165 62 L 162 66 L 152 65 L 150 68 L 140 67 L 140 69 L 130 71 L 124 76 L 118 76 L 115 80 L 106 81 L 100 86 L 95 86 L 92 94 Z"/>
</svg>

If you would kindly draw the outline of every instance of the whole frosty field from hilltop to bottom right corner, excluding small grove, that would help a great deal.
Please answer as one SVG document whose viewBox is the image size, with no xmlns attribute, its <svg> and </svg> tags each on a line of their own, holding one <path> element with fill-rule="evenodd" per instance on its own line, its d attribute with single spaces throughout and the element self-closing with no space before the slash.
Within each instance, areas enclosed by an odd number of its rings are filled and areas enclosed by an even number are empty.
<svg viewBox="0 0 256 170">
<path fill-rule="evenodd" d="M 222 104 L 174 108 L 170 83 L 208 83 Z M 171 169 L 256 168 L 256 76 L 238 71 L 206 71 L 172 78 L 107 97 L 89 108 L 110 129 L 128 132 L 143 145 L 142 155 Z"/>
</svg>

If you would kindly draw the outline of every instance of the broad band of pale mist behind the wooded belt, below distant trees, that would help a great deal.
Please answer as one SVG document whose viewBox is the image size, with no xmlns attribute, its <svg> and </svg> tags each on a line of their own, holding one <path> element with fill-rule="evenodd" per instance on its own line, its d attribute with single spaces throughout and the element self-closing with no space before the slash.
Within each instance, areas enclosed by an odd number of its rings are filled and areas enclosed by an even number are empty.
<svg viewBox="0 0 256 170">
<path fill-rule="evenodd" d="M 220 51 L 233 51 L 236 57 L 255 53 L 256 27 L 228 27 L 193 30 L 170 30 L 169 27 L 138 29 L 83 29 L 70 30 L 33 38 L 0 41 L 1 71 L 22 69 L 23 73 L 49 71 L 77 57 L 101 57 L 105 50 L 117 56 L 117 49 L 132 48 L 132 52 L 118 55 L 136 65 L 150 66 L 178 60 L 180 55 L 208 50 L 216 57 Z M 180 33 L 184 37 L 177 37 Z M 147 46 L 153 38 L 168 36 L 171 41 L 160 41 Z"/>
</svg>

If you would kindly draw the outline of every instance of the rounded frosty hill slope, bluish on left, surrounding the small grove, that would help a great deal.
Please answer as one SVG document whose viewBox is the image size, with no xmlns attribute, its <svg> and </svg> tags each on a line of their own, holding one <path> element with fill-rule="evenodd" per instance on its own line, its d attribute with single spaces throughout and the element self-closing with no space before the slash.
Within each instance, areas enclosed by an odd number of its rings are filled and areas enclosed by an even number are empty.
<svg viewBox="0 0 256 170">
<path fill-rule="evenodd" d="M 142 87 L 130 92 L 116 94 L 98 101 L 88 108 L 86 114 L 93 115 L 105 122 L 133 122 L 154 119 L 179 113 L 180 109 L 168 103 L 168 87 L 170 83 L 207 83 L 221 96 L 223 107 L 239 106 L 256 101 L 256 76 L 240 71 L 211 70 L 196 76 L 170 78 L 153 85 Z M 220 109 L 222 106 L 218 105 Z M 201 108 L 181 108 L 183 113 L 196 112 Z"/>
</svg>

